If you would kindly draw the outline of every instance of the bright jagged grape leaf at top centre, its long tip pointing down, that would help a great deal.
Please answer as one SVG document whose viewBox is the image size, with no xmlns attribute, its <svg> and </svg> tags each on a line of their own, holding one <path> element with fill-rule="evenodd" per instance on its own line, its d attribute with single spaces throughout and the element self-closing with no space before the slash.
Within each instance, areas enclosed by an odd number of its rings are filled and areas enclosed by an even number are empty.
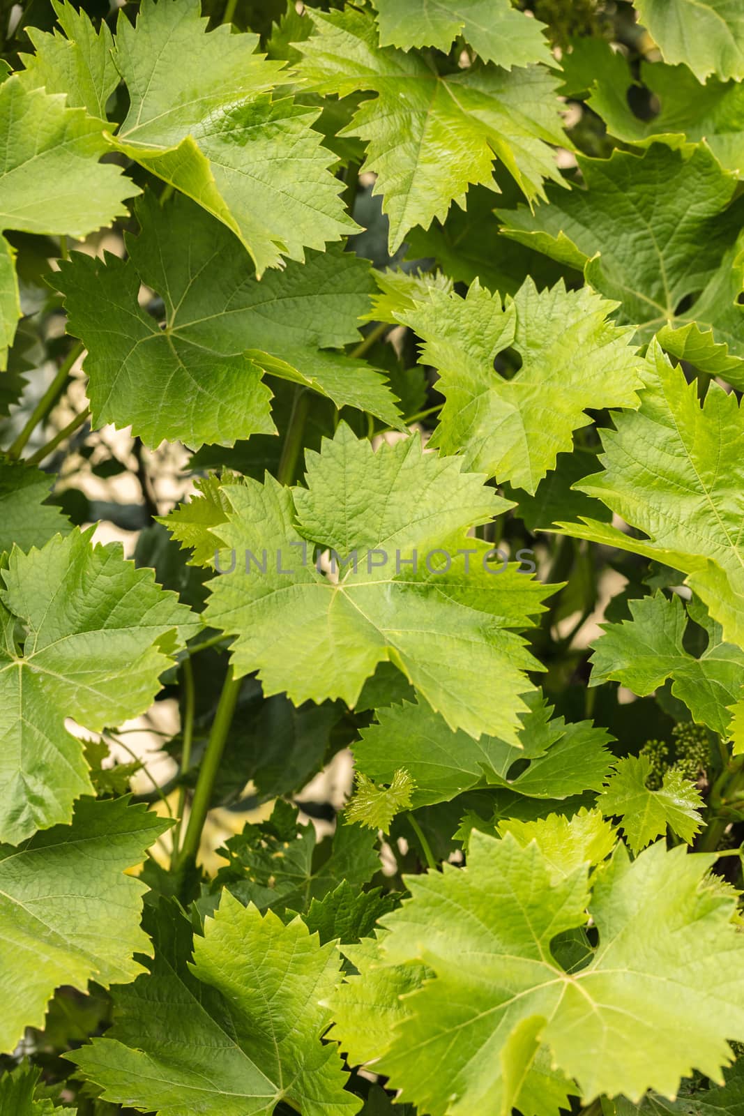
<svg viewBox="0 0 744 1116">
<path fill-rule="evenodd" d="M 468 185 L 497 190 L 494 157 L 528 199 L 544 196 L 543 180 L 562 181 L 549 144 L 568 143 L 557 115 L 557 79 L 542 66 L 511 71 L 493 65 L 435 74 L 417 55 L 378 46 L 368 12 L 309 12 L 316 33 L 299 44 L 300 76 L 316 92 L 341 96 L 368 89 L 342 135 L 367 144 L 364 171 L 377 174 L 390 221 L 390 254 L 408 230 L 463 205 Z M 518 19 L 522 17 L 518 16 Z"/>
</svg>

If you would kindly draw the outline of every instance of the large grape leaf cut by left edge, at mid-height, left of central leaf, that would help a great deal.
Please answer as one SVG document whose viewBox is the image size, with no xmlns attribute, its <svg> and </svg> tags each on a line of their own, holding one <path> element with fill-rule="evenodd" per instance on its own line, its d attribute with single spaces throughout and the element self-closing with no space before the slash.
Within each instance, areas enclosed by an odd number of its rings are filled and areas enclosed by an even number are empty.
<svg viewBox="0 0 744 1116">
<path fill-rule="evenodd" d="M 56 536 L 0 573 L 0 838 L 69 821 L 91 793 L 83 743 L 67 716 L 99 732 L 136 716 L 161 689 L 180 638 L 201 626 L 152 570 L 93 528 Z"/>
</svg>

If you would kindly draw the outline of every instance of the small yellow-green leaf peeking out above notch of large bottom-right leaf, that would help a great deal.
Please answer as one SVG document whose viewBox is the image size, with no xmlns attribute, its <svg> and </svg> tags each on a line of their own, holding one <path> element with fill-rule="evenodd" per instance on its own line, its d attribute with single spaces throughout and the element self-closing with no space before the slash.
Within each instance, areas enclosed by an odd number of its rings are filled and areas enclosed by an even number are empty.
<svg viewBox="0 0 744 1116">
<path fill-rule="evenodd" d="M 583 864 L 601 864 L 615 848 L 615 830 L 600 810 L 582 808 L 572 818 L 549 814 L 537 821 L 509 818 L 500 821 L 497 829 L 502 837 L 511 834 L 523 848 L 537 841 L 553 882 L 570 876 Z"/>
</svg>

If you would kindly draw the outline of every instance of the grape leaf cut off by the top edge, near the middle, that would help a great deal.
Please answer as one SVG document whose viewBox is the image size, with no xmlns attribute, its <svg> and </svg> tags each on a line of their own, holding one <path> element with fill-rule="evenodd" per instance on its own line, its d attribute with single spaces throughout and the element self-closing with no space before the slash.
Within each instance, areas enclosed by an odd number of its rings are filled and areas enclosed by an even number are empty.
<svg viewBox="0 0 744 1116">
<path fill-rule="evenodd" d="M 436 47 L 450 50 L 464 35 L 484 61 L 504 69 L 552 62 L 542 25 L 525 19 L 509 0 L 374 0 L 378 11 L 380 46 Z"/>
</svg>

